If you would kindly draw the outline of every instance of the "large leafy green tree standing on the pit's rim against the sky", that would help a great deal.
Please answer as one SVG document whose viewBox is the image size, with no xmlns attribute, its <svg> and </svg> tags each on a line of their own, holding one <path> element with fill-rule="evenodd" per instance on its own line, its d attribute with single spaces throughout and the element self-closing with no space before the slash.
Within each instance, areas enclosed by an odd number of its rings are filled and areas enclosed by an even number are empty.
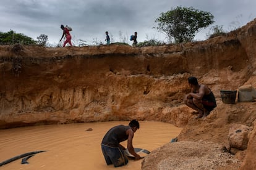
<svg viewBox="0 0 256 170">
<path fill-rule="evenodd" d="M 215 21 L 210 12 L 204 12 L 192 7 L 176 7 L 176 9 L 162 12 L 155 22 L 155 28 L 166 34 L 169 42 L 190 42 L 195 35 Z"/>
</svg>

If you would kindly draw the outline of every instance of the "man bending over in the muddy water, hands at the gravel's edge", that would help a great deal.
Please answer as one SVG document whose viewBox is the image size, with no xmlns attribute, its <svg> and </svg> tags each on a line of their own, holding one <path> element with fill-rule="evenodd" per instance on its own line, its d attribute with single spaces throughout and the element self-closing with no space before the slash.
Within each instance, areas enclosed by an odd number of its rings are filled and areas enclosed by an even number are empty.
<svg viewBox="0 0 256 170">
<path fill-rule="evenodd" d="M 105 134 L 101 142 L 101 150 L 105 157 L 106 164 L 114 164 L 114 167 L 123 166 L 128 163 L 128 158 L 124 155 L 125 147 L 120 142 L 127 141 L 127 148 L 130 154 L 135 156 L 135 160 L 140 160 L 142 157 L 135 153 L 132 145 L 134 133 L 140 128 L 137 120 L 130 121 L 129 126 L 118 125 L 114 126 Z"/>
</svg>

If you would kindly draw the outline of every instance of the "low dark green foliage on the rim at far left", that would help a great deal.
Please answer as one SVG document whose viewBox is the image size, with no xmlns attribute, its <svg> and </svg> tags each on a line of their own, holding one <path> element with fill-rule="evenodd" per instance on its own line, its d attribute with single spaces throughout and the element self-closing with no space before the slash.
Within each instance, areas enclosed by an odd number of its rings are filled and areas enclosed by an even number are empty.
<svg viewBox="0 0 256 170">
<path fill-rule="evenodd" d="M 32 38 L 25 36 L 21 33 L 15 33 L 15 31 L 10 30 L 7 33 L 0 32 L 0 44 L 9 45 L 9 44 L 36 44 L 36 41 Z"/>
</svg>

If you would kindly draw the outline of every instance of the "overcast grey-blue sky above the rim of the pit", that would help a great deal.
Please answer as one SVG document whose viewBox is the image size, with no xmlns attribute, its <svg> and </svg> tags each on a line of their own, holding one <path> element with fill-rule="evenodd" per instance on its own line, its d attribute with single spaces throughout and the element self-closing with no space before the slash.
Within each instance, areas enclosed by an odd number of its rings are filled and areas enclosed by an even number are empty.
<svg viewBox="0 0 256 170">
<path fill-rule="evenodd" d="M 35 40 L 46 34 L 53 45 L 62 36 L 61 24 L 72 27 L 75 44 L 79 39 L 87 44 L 106 43 L 105 31 L 113 38 L 111 42 L 129 38 L 134 31 L 139 42 L 167 41 L 153 26 L 161 12 L 177 6 L 194 7 L 215 17 L 215 23 L 200 31 L 196 40 L 206 39 L 211 26 L 222 25 L 224 31 L 231 31 L 256 18 L 255 0 L 1 0 L 0 31 L 14 30 Z"/>
</svg>

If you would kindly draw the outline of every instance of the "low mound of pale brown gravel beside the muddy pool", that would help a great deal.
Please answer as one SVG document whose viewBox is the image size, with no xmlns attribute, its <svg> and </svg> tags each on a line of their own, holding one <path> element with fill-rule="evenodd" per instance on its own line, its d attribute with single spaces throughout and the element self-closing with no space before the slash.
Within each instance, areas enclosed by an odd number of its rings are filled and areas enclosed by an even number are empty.
<svg viewBox="0 0 256 170">
<path fill-rule="evenodd" d="M 142 162 L 143 170 L 151 169 L 220 169 L 239 160 L 221 145 L 210 142 L 181 141 L 164 145 L 150 153 Z M 239 166 L 238 166 L 239 167 Z M 238 169 L 237 167 L 237 169 Z"/>
</svg>

